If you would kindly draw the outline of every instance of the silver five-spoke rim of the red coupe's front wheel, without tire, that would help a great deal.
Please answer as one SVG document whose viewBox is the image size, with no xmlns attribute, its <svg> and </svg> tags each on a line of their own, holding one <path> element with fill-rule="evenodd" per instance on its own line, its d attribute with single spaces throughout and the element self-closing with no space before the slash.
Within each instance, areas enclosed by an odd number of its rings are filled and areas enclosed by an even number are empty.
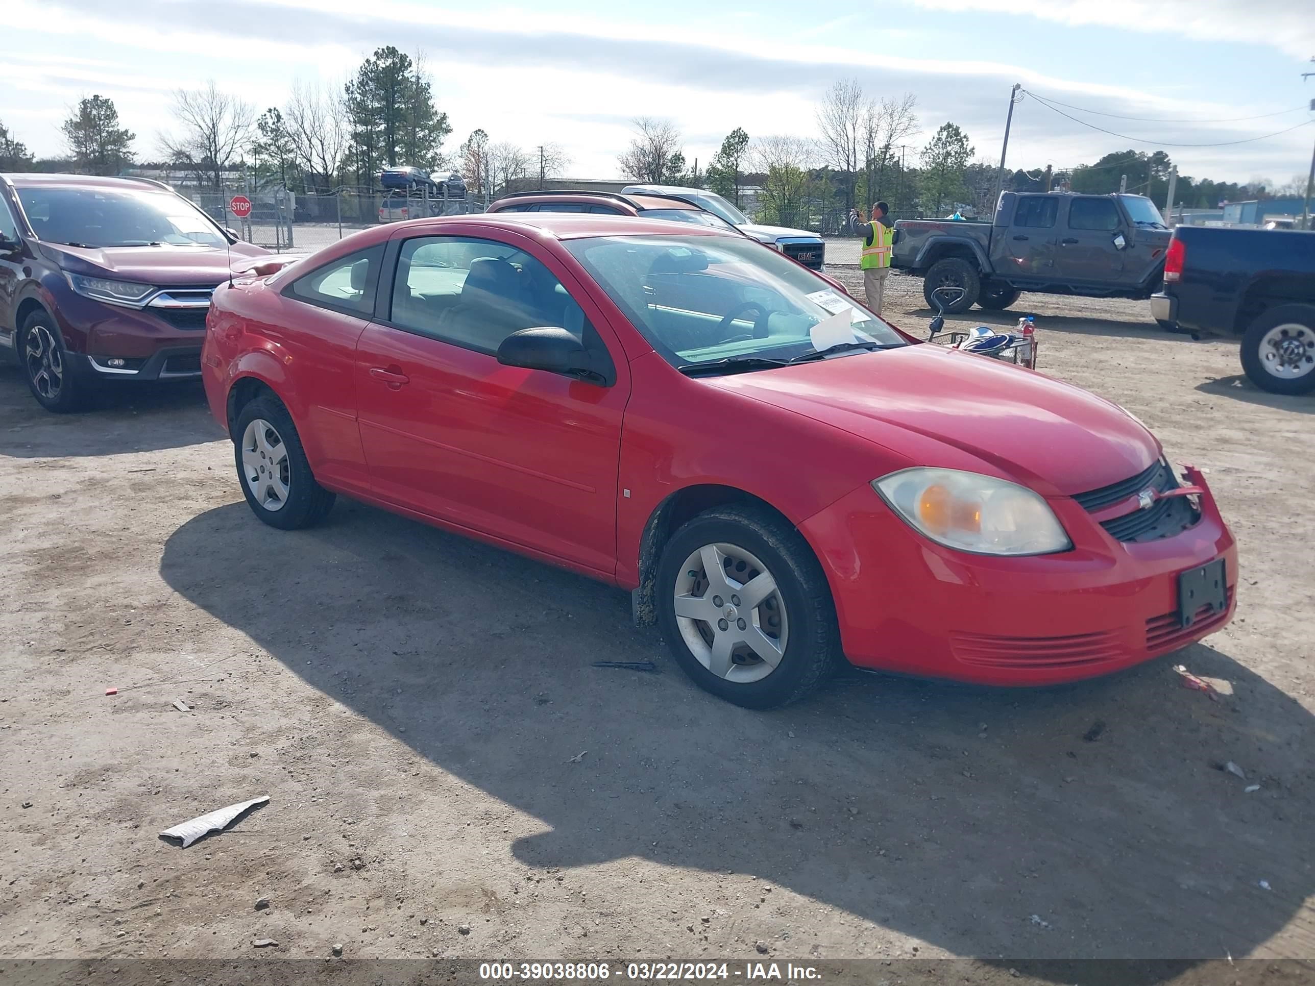
<svg viewBox="0 0 1315 986">
<path fill-rule="evenodd" d="M 761 681 L 789 639 L 785 601 L 757 557 L 735 544 L 705 544 L 680 567 L 676 626 L 690 653 L 719 678 Z"/>
</svg>

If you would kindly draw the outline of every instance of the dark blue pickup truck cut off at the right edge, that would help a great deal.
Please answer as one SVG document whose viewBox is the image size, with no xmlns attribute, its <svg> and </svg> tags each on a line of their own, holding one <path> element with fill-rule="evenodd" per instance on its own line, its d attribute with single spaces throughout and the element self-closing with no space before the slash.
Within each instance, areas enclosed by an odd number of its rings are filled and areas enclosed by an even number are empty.
<svg viewBox="0 0 1315 986">
<path fill-rule="evenodd" d="M 1315 390 L 1315 233 L 1178 226 L 1151 313 L 1194 337 L 1240 335 L 1270 393 Z"/>
</svg>

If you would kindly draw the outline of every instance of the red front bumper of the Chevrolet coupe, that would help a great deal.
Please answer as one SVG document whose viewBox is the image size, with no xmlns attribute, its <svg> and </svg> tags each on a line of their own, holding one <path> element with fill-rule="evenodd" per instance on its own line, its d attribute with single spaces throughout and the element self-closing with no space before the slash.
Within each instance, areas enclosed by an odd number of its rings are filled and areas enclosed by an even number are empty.
<svg viewBox="0 0 1315 986">
<path fill-rule="evenodd" d="M 863 486 L 800 530 L 822 560 L 846 656 L 857 667 L 985 685 L 1107 674 L 1186 647 L 1232 619 L 1237 550 L 1205 481 L 1201 518 L 1172 538 L 1122 543 L 1076 501 L 1051 506 L 1073 550 L 967 555 L 917 534 Z M 1178 573 L 1223 557 L 1224 613 L 1177 621 Z"/>
</svg>

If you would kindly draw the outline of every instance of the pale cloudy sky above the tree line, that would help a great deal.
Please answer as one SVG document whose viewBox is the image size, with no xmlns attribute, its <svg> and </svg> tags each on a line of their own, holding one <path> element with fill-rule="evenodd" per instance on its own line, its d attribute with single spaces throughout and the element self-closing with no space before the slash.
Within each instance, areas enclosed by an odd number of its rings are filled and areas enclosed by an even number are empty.
<svg viewBox="0 0 1315 986">
<path fill-rule="evenodd" d="M 917 95 L 924 133 L 910 154 L 949 120 L 998 159 L 1019 82 L 1082 108 L 1063 109 L 1084 122 L 1024 97 L 1013 166 L 1162 149 L 1184 174 L 1286 183 L 1315 141 L 1315 78 L 1301 79 L 1315 71 L 1312 1 L 5 0 L 0 121 L 34 153 L 59 154 L 68 108 L 100 93 L 150 158 L 179 87 L 213 79 L 277 105 L 295 82 L 341 84 L 391 43 L 427 55 L 448 151 L 475 128 L 527 147 L 556 141 L 579 177 L 617 174 L 636 114 L 675 121 L 701 163 L 735 126 L 811 135 L 814 101 L 853 76 L 874 96 Z"/>
</svg>

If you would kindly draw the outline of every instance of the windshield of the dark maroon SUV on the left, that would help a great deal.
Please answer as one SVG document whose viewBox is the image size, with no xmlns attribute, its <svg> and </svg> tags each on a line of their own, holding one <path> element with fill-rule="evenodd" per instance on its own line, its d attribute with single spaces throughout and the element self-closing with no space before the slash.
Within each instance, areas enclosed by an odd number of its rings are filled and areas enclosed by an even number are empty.
<svg viewBox="0 0 1315 986">
<path fill-rule="evenodd" d="M 20 188 L 38 239 L 87 247 L 222 247 L 224 234 L 185 199 L 105 188 Z"/>
</svg>

